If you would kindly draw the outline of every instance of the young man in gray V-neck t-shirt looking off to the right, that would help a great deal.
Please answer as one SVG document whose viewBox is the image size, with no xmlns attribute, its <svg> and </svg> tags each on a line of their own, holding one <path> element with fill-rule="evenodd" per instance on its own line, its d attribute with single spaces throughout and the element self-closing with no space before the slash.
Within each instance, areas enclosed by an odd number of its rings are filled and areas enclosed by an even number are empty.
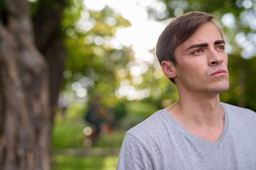
<svg viewBox="0 0 256 170">
<path fill-rule="evenodd" d="M 256 169 L 256 113 L 220 102 L 228 58 L 214 18 L 186 13 L 160 35 L 156 54 L 179 99 L 126 133 L 118 170 Z"/>
</svg>

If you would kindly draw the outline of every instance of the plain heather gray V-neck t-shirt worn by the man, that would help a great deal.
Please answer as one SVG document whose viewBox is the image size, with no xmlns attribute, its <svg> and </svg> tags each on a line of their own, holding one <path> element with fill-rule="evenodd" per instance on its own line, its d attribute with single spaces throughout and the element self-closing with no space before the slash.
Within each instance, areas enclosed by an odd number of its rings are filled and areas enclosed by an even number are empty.
<svg viewBox="0 0 256 170">
<path fill-rule="evenodd" d="M 216 143 L 195 136 L 162 109 L 126 133 L 117 170 L 256 170 L 256 113 L 221 105 L 225 125 Z"/>
</svg>

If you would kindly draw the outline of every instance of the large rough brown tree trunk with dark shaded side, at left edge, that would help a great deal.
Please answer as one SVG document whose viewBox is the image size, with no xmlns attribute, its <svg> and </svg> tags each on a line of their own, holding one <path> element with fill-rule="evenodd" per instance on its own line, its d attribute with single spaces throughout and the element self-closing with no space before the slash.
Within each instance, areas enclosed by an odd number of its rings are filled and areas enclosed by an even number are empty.
<svg viewBox="0 0 256 170">
<path fill-rule="evenodd" d="M 27 0 L 0 1 L 5 4 L 0 8 L 0 167 L 49 170 L 50 131 L 64 65 L 56 32 L 63 3 L 54 1 L 62 6 L 52 8 L 55 13 L 47 16 L 57 18 L 48 25 L 49 33 L 34 33 L 33 28 L 43 28 L 47 17 L 33 24 Z M 34 21 L 44 9 L 38 10 Z M 39 46 L 41 37 L 45 43 Z"/>
</svg>

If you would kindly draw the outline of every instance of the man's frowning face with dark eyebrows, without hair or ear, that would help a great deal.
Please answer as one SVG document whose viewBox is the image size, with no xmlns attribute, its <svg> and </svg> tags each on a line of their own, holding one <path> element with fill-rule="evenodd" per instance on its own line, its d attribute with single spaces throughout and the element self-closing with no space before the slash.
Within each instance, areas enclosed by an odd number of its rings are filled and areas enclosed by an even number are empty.
<svg viewBox="0 0 256 170">
<path fill-rule="evenodd" d="M 203 24 L 178 46 L 175 57 L 178 90 L 220 94 L 229 89 L 225 41 L 213 23 Z"/>
</svg>

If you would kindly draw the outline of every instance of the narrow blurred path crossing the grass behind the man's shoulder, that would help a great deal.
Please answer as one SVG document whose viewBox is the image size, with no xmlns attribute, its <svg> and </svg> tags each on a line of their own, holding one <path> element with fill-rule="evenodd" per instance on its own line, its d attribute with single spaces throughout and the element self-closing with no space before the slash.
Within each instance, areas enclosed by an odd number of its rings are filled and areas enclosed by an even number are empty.
<svg viewBox="0 0 256 170">
<path fill-rule="evenodd" d="M 53 155 L 66 156 L 119 156 L 120 148 L 71 148 L 52 150 Z"/>
</svg>

